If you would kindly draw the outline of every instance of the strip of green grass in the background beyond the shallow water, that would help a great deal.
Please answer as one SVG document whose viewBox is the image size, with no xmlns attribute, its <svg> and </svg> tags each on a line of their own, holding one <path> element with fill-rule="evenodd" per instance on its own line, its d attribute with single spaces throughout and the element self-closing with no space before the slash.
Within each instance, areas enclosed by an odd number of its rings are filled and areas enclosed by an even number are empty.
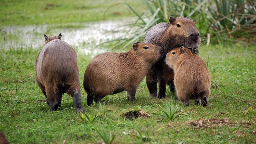
<svg viewBox="0 0 256 144">
<path fill-rule="evenodd" d="M 61 27 L 83 27 L 66 23 L 81 23 L 103 20 L 108 7 L 120 3 L 119 0 L 3 0 L 0 3 L 0 25 L 57 24 Z M 126 0 L 139 12 L 145 10 L 141 1 Z M 135 14 L 124 3 L 110 8 L 104 20 L 130 17 Z M 74 25 L 74 26 L 73 26 Z"/>
</svg>

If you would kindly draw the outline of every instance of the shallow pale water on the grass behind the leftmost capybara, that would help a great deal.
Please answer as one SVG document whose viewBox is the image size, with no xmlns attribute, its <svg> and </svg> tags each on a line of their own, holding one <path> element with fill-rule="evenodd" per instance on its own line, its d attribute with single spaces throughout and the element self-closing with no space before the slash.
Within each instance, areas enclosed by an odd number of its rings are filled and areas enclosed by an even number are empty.
<svg viewBox="0 0 256 144">
<path fill-rule="evenodd" d="M 76 26 L 76 23 L 71 25 Z M 8 26 L 1 28 L 1 48 L 34 48 L 41 49 L 44 44 L 44 33 L 47 36 L 62 34 L 64 40 L 79 52 L 96 55 L 107 51 L 98 46 L 102 42 L 124 36 L 127 28 L 121 27 L 123 21 L 102 21 L 79 23 L 79 28 L 60 28 L 56 25 Z"/>
</svg>

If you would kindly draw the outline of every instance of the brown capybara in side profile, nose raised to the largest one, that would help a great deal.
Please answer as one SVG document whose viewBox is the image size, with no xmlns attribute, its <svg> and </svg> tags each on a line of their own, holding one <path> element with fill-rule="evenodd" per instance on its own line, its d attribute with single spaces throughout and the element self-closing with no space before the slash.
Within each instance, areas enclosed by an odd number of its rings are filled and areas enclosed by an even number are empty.
<svg viewBox="0 0 256 144">
<path fill-rule="evenodd" d="M 106 95 L 127 91 L 133 101 L 138 85 L 149 68 L 163 56 L 161 47 L 136 42 L 128 52 L 107 52 L 96 56 L 84 73 L 87 104 L 100 101 Z"/>
</svg>

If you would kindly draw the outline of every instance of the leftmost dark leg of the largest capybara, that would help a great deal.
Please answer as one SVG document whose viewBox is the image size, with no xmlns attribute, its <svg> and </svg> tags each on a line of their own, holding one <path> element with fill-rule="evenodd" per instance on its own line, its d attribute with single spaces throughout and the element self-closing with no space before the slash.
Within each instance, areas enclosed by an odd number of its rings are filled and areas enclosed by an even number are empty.
<svg viewBox="0 0 256 144">
<path fill-rule="evenodd" d="M 156 97 L 157 96 L 157 77 L 156 77 L 156 69 L 154 66 L 149 69 L 147 75 L 146 75 L 146 83 L 149 91 L 150 97 Z"/>
</svg>

